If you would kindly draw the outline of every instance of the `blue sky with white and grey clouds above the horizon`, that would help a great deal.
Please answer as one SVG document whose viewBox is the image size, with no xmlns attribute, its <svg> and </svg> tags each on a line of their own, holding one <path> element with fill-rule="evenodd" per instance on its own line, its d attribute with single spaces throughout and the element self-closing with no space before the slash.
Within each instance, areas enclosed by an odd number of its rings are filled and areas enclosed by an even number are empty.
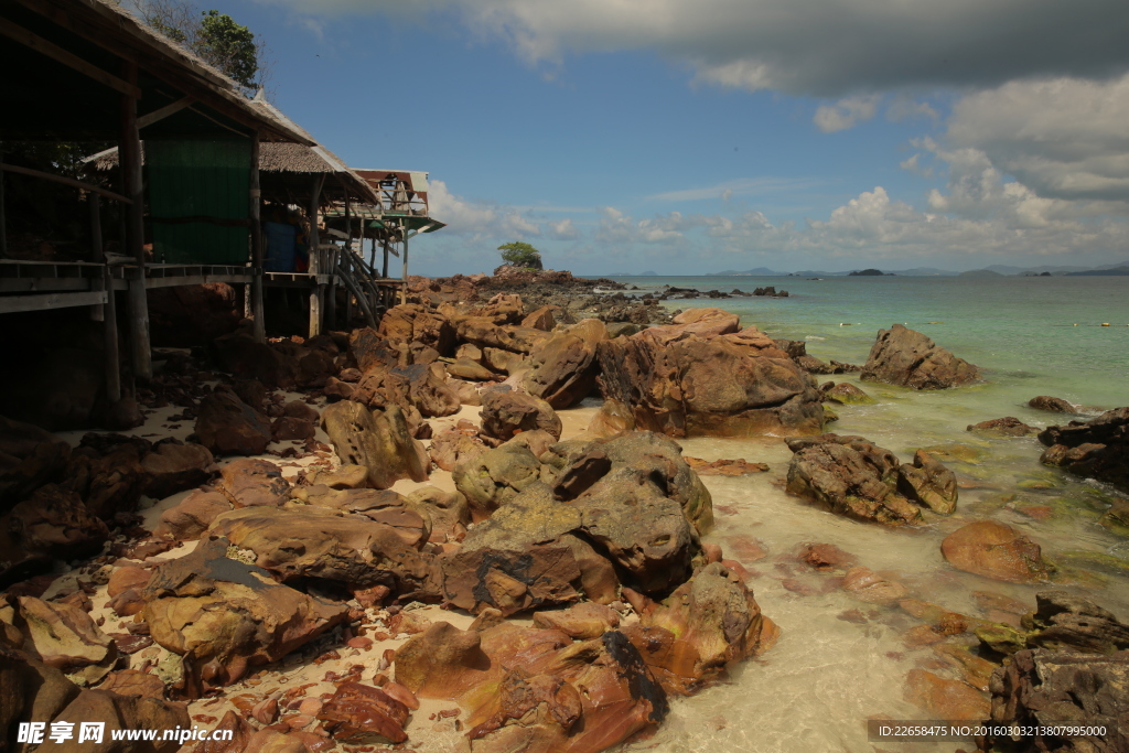
<svg viewBox="0 0 1129 753">
<path fill-rule="evenodd" d="M 1129 260 L 1124 0 L 211 0 L 353 167 L 426 170 L 413 273 Z"/>
</svg>

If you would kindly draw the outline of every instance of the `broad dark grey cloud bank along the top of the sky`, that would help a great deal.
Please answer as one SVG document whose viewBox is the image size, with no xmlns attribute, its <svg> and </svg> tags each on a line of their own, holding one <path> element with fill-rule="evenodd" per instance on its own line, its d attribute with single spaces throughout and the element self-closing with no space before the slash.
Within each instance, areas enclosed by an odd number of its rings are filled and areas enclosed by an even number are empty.
<svg viewBox="0 0 1129 753">
<path fill-rule="evenodd" d="M 841 97 L 1129 70 L 1124 0 L 259 0 L 301 15 L 455 11 L 532 62 L 654 50 L 695 78 Z"/>
</svg>

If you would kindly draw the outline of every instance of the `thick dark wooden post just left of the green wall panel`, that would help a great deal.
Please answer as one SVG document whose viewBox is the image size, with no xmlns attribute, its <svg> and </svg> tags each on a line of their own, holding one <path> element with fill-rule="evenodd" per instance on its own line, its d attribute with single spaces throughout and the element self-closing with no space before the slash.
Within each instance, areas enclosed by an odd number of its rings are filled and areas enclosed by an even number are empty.
<svg viewBox="0 0 1129 753">
<path fill-rule="evenodd" d="M 125 61 L 122 78 L 137 86 L 137 63 Z M 130 280 L 130 351 L 133 373 L 148 380 L 152 378 L 152 352 L 149 341 L 149 303 L 146 300 L 141 137 L 138 133 L 138 100 L 125 94 L 121 96 L 121 129 L 117 154 L 122 167 L 122 193 L 133 202 L 125 208 L 125 248 L 137 264 L 137 274 Z"/>
</svg>

